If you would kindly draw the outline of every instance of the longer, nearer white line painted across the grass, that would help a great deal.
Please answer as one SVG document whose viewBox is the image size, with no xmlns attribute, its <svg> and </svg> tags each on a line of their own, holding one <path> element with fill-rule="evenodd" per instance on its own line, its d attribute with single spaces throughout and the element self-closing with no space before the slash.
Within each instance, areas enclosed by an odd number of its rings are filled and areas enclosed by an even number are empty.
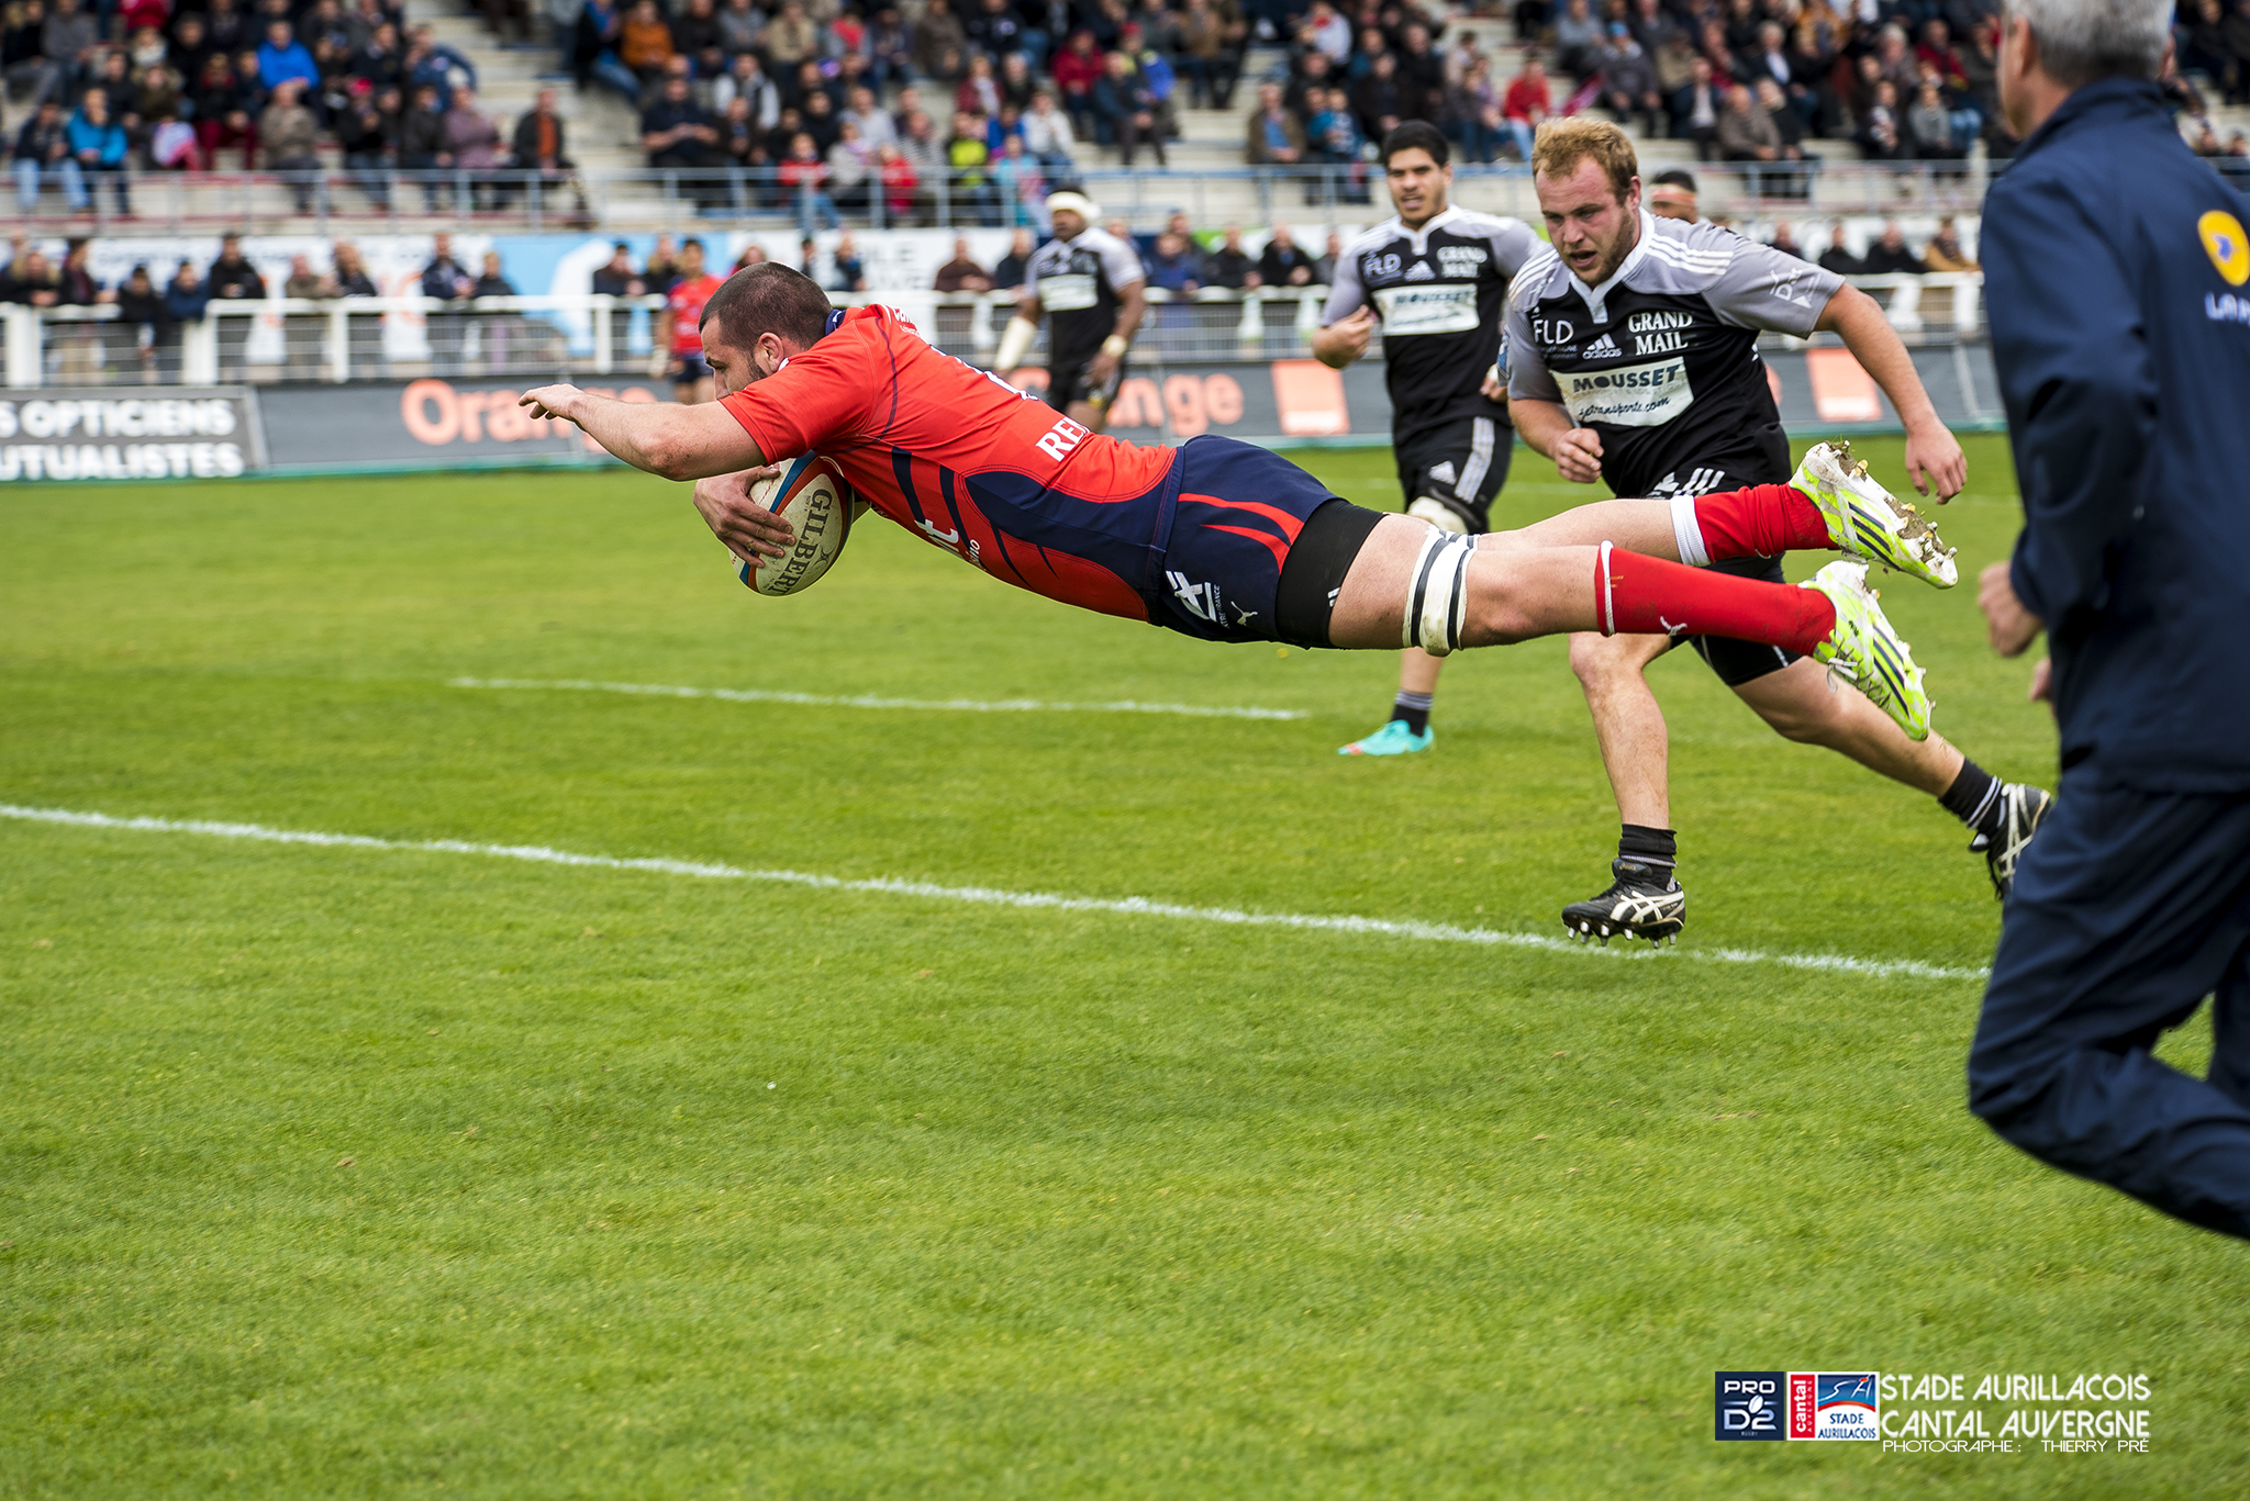
<svg viewBox="0 0 2250 1501">
<path fill-rule="evenodd" d="M 526 860 L 531 864 L 592 866 L 601 871 L 648 871 L 655 875 L 693 875 L 698 880 L 756 880 L 788 887 L 812 887 L 817 891 L 868 891 L 875 896 L 909 896 L 932 902 L 965 902 L 972 907 L 1037 907 L 1048 911 L 1109 911 L 1130 918 L 1170 918 L 1181 923 L 1231 923 L 1238 927 L 1296 927 L 1332 934 L 1368 934 L 1377 938 L 1406 938 L 1413 943 L 1476 943 L 1485 947 L 1526 947 L 1550 954 L 1602 954 L 1622 959 L 1624 945 L 1616 954 L 1568 938 L 1546 934 L 1512 934 L 1490 927 L 1454 927 L 1449 923 L 1415 923 L 1395 918 L 1318 916 L 1294 911 L 1240 911 L 1235 907 L 1181 907 L 1177 902 L 1152 902 L 1145 896 L 1060 896 L 1053 891 L 1001 891 L 997 887 L 940 887 L 927 880 L 846 880 L 842 875 L 810 875 L 806 871 L 754 871 L 731 864 L 709 864 L 698 860 L 623 860 L 619 855 L 578 855 L 574 851 L 547 848 L 544 844 L 470 844 L 466 839 L 376 839 L 369 835 L 331 835 L 302 828 L 268 828 L 263 824 L 214 824 L 205 819 L 119 819 L 106 812 L 74 812 L 70 808 L 18 808 L 0 803 L 0 817 L 29 824 L 70 824 L 76 828 L 122 828 L 160 835 L 209 835 L 216 839 L 256 839 L 261 844 L 315 844 L 324 848 L 364 851 L 410 851 L 434 855 L 486 855 L 493 860 Z M 1642 959 L 1775 965 L 1782 970 L 1818 970 L 1829 974 L 1865 974 L 1872 979 L 1958 979 L 1980 981 L 1984 970 L 1962 970 L 1919 959 L 1852 959 L 1847 954 L 1766 954 L 1757 950 L 1670 950 L 1638 952 Z"/>
</svg>

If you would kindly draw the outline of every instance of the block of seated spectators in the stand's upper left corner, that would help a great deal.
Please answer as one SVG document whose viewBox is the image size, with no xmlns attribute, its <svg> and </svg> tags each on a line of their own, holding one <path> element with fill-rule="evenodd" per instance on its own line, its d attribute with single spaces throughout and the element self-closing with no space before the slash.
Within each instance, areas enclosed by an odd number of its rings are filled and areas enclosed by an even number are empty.
<svg viewBox="0 0 2250 1501">
<path fill-rule="evenodd" d="M 475 63 L 396 0 L 4 0 L 0 90 L 25 214 L 47 189 L 86 212 L 108 185 L 130 216 L 130 171 L 207 171 L 223 151 L 288 176 L 299 212 L 331 155 L 376 207 L 392 171 L 457 173 L 423 194 L 466 182 L 464 207 L 572 171 L 551 95 L 502 131 Z"/>
</svg>

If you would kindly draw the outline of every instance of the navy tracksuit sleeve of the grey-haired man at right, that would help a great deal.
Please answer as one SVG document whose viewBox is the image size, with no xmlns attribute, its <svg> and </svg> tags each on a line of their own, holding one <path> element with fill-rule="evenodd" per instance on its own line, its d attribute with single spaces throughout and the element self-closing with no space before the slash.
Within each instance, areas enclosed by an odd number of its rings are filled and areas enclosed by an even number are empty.
<svg viewBox="0 0 2250 1501">
<path fill-rule="evenodd" d="M 2025 513 L 2009 576 L 2052 628 L 2102 605 L 2133 524 L 2156 434 L 2149 331 L 2104 225 L 2059 180 L 1996 191 L 1982 252 Z"/>
</svg>

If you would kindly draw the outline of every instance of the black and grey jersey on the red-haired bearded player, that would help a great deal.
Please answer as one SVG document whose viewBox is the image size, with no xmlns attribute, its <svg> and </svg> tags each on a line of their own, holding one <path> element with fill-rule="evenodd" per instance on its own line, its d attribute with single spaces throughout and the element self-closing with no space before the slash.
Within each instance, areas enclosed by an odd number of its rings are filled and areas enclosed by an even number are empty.
<svg viewBox="0 0 2250 1501">
<path fill-rule="evenodd" d="M 1508 394 L 1557 401 L 1602 434 L 1618 495 L 1692 486 L 1694 470 L 1789 477 L 1757 333 L 1807 335 L 1843 277 L 1732 230 L 1640 214 L 1602 286 L 1539 250 L 1508 297 Z M 1667 484 L 1670 482 L 1670 484 Z"/>
</svg>

